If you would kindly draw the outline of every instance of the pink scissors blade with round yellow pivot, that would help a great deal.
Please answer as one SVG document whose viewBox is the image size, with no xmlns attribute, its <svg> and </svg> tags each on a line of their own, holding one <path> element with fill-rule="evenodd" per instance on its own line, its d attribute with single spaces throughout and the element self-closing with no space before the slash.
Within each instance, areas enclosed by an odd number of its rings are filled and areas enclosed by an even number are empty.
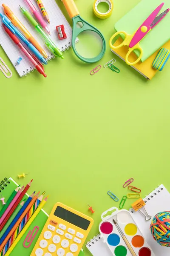
<svg viewBox="0 0 170 256">
<path fill-rule="evenodd" d="M 151 29 L 151 24 L 153 23 L 153 20 L 156 18 L 156 16 L 159 14 L 160 10 L 164 6 L 164 3 L 161 3 L 152 13 L 151 15 L 144 21 L 144 23 L 139 27 L 139 29 L 136 31 L 135 35 L 132 38 L 132 41 L 129 44 L 129 47 L 132 48 L 136 44 L 138 44 L 144 37 L 147 35 L 147 33 Z M 144 28 L 142 32 L 142 28 Z"/>
</svg>

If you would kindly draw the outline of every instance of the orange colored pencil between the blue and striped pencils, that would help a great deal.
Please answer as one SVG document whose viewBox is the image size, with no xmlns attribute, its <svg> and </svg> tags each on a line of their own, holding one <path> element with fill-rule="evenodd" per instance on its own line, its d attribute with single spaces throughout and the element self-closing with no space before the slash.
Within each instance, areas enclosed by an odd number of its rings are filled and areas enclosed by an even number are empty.
<svg viewBox="0 0 170 256">
<path fill-rule="evenodd" d="M 27 208 L 25 209 L 25 211 L 21 214 L 20 218 L 18 219 L 18 221 L 14 224 L 14 227 L 10 230 L 10 232 L 8 233 L 8 235 L 6 236 L 6 239 L 4 239 L 4 241 L 2 242 L 2 244 L 0 245 L 0 251 L 3 249 L 4 245 L 6 244 L 6 242 L 8 241 L 8 239 L 11 237 L 11 235 L 14 233 L 14 231 L 16 230 L 16 228 L 18 227 L 18 225 L 20 224 L 20 222 L 23 220 L 24 216 L 27 214 L 27 212 L 29 211 L 29 209 L 31 209 L 32 205 L 34 204 L 34 202 L 37 200 L 37 196 L 39 193 L 37 193 L 37 195 L 34 196 L 34 198 L 31 200 L 30 204 L 28 204 Z"/>
</svg>

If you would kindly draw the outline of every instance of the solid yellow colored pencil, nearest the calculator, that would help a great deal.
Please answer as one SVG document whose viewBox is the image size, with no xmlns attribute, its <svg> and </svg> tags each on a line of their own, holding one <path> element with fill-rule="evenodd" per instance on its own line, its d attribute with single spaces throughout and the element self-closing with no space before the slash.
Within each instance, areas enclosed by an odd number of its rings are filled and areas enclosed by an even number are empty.
<svg viewBox="0 0 170 256">
<path fill-rule="evenodd" d="M 23 237 L 23 235 L 26 233 L 26 231 L 28 230 L 28 227 L 31 225 L 31 223 L 34 221 L 34 219 L 37 217 L 37 215 L 39 214 L 40 210 L 44 207 L 46 201 L 48 199 L 48 196 L 40 203 L 39 207 L 37 208 L 37 210 L 34 212 L 34 214 L 31 216 L 31 218 L 29 219 L 29 221 L 27 222 L 27 224 L 25 225 L 25 227 L 23 228 L 23 230 L 20 232 L 20 234 L 17 236 L 17 238 L 14 240 L 13 244 L 11 245 L 11 247 L 8 249 L 8 251 L 6 252 L 6 256 L 9 256 L 9 254 L 12 252 L 12 250 L 14 250 L 14 247 L 17 245 L 17 243 L 20 241 L 20 239 Z M 0 250 L 1 251 L 1 250 Z M 2 255 L 2 254 L 0 254 Z"/>
</svg>

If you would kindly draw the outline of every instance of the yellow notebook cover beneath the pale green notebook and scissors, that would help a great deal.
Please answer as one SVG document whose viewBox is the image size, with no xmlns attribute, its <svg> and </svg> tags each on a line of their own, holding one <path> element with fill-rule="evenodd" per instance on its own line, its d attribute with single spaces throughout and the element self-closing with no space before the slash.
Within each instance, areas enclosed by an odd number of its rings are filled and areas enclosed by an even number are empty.
<svg viewBox="0 0 170 256">
<path fill-rule="evenodd" d="M 122 42 L 122 38 L 119 37 L 117 39 L 117 41 L 115 42 L 115 45 L 119 45 Z M 164 48 L 170 49 L 170 41 L 168 41 L 166 44 L 164 44 L 164 46 L 162 46 Z M 123 61 L 125 61 L 125 55 L 127 54 L 128 51 L 128 47 L 124 46 L 121 47 L 119 49 L 114 49 L 114 51 L 112 50 L 113 53 L 115 53 L 116 55 L 118 55 L 120 58 L 122 58 Z M 156 73 L 158 72 L 158 70 L 154 69 L 152 67 L 152 63 L 154 61 L 154 59 L 156 58 L 156 55 L 158 54 L 159 49 L 153 53 L 153 55 L 150 56 L 150 58 L 148 58 L 146 61 L 144 62 L 139 62 L 134 66 L 129 66 L 133 67 L 133 69 L 135 69 L 136 71 L 138 71 L 139 73 L 142 74 L 142 76 L 144 76 L 147 79 L 152 79 L 153 76 L 156 75 Z M 130 61 L 135 61 L 136 60 L 136 55 L 135 53 L 132 52 L 132 54 L 130 55 Z"/>
</svg>

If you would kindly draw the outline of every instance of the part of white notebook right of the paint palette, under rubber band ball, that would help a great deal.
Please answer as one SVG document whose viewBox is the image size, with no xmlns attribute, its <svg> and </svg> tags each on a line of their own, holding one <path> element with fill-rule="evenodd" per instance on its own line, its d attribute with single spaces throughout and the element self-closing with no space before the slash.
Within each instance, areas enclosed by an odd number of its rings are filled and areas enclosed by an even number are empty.
<svg viewBox="0 0 170 256">
<path fill-rule="evenodd" d="M 146 203 L 144 208 L 146 209 L 147 213 L 153 218 L 158 212 L 170 210 L 170 193 L 163 185 L 161 185 L 153 190 L 153 192 L 151 192 L 149 195 L 147 195 L 144 198 L 144 202 Z M 130 210 L 130 212 L 133 212 L 133 210 Z M 145 221 L 144 216 L 142 216 L 139 211 L 133 212 L 132 216 L 134 221 L 136 221 L 136 223 L 138 224 L 139 229 L 141 230 L 144 238 L 152 248 L 155 255 L 170 256 L 170 248 L 159 245 L 153 239 L 149 229 L 151 220 Z"/>
</svg>

